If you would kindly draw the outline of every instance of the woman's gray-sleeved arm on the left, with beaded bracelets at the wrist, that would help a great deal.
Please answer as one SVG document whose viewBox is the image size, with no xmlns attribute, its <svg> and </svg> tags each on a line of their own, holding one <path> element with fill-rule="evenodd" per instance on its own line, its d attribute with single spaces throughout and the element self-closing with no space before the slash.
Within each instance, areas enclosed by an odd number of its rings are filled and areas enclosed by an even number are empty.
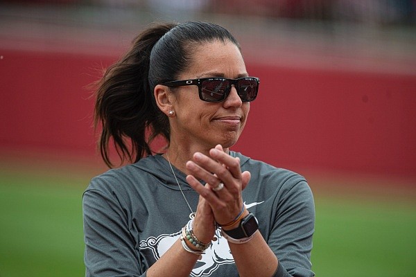
<svg viewBox="0 0 416 277">
<path fill-rule="evenodd" d="M 148 265 L 141 265 L 135 239 L 129 231 L 128 215 L 120 201 L 115 195 L 101 190 L 87 190 L 83 195 L 85 275 L 189 276 L 199 256 L 185 251 L 180 240 L 148 269 Z M 211 218 L 213 236 L 211 211 L 206 212 Z M 204 216 L 204 209 L 198 208 L 197 217 Z M 208 222 L 207 217 L 201 222 Z M 206 226 L 202 228 L 209 229 Z"/>
</svg>

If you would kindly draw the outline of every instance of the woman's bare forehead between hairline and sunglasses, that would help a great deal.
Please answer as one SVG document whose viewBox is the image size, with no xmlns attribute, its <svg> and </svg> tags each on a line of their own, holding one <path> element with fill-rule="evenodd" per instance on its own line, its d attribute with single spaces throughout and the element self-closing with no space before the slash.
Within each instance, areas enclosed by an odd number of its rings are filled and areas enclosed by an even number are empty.
<svg viewBox="0 0 416 277">
<path fill-rule="evenodd" d="M 234 78 L 234 75 L 245 73 L 245 63 L 239 48 L 232 42 L 218 40 L 197 44 L 193 48 L 191 62 L 184 72 L 190 78 L 201 78 L 207 75 L 224 75 L 227 78 Z"/>
</svg>

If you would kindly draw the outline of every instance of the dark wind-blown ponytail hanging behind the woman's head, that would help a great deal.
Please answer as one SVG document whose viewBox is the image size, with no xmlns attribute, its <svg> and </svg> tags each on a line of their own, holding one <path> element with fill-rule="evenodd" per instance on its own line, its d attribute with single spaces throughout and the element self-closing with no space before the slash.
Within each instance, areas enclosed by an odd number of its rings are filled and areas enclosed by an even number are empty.
<svg viewBox="0 0 416 277">
<path fill-rule="evenodd" d="M 174 26 L 150 26 L 134 39 L 130 50 L 112 64 L 98 82 L 94 127 L 102 127 L 98 148 L 110 168 L 113 167 L 110 138 L 121 163 L 125 159 L 139 161 L 141 157 L 152 154 L 150 143 L 157 135 L 169 138 L 168 119 L 155 105 L 148 71 L 153 46 Z"/>
</svg>

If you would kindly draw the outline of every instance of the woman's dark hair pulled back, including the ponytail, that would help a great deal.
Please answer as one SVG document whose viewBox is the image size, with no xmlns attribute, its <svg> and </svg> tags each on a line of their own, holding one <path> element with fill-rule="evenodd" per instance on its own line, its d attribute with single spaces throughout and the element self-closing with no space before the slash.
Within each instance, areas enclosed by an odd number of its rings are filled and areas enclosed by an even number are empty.
<svg viewBox="0 0 416 277">
<path fill-rule="evenodd" d="M 121 162 L 136 162 L 152 154 L 150 143 L 170 139 L 168 117 L 156 105 L 156 84 L 175 80 L 192 62 L 196 45 L 219 40 L 239 43 L 223 27 L 205 22 L 156 23 L 132 42 L 121 59 L 97 83 L 94 125 L 102 125 L 98 147 L 110 168 L 113 139 Z"/>
</svg>

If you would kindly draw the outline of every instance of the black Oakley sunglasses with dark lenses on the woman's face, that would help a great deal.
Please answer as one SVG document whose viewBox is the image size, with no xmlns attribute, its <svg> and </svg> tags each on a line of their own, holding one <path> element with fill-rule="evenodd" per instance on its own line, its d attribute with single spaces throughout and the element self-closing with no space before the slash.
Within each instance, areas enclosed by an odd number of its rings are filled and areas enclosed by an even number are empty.
<svg viewBox="0 0 416 277">
<path fill-rule="evenodd" d="M 250 102 L 257 97 L 259 91 L 259 78 L 243 77 L 238 79 L 202 78 L 193 80 L 180 80 L 162 83 L 167 87 L 198 86 L 200 100 L 206 102 L 222 102 L 229 95 L 234 85 L 243 102 Z"/>
</svg>

